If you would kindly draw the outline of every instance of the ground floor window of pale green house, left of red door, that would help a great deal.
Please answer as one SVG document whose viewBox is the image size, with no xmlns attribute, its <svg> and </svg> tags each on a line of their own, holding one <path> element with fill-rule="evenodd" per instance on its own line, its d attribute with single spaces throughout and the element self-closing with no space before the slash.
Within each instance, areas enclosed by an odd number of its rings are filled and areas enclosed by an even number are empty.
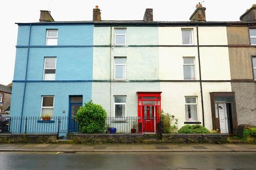
<svg viewBox="0 0 256 170">
<path fill-rule="evenodd" d="M 115 117 L 126 116 L 126 96 L 114 96 Z"/>
</svg>

